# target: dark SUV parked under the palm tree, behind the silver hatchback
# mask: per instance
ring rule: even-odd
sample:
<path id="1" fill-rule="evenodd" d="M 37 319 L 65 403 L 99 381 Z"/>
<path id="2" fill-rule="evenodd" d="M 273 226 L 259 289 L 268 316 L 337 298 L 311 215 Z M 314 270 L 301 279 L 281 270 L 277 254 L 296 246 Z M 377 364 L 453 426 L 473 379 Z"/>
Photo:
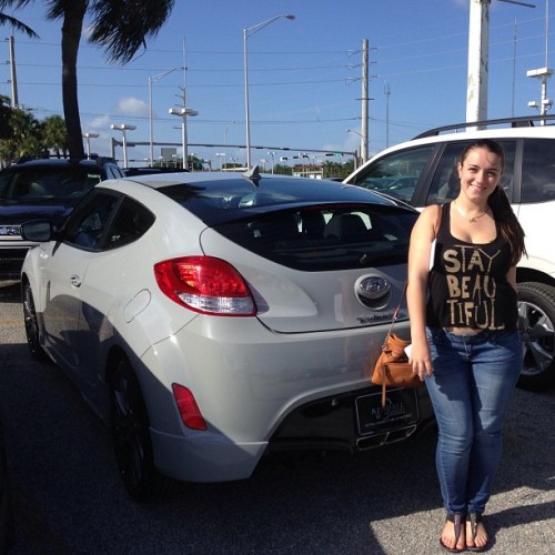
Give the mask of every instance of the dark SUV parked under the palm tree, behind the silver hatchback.
<path id="1" fill-rule="evenodd" d="M 26 253 L 34 244 L 21 238 L 21 223 L 48 218 L 61 225 L 93 185 L 122 176 L 122 169 L 105 159 L 26 160 L 0 171 L 0 279 L 19 280 Z"/>

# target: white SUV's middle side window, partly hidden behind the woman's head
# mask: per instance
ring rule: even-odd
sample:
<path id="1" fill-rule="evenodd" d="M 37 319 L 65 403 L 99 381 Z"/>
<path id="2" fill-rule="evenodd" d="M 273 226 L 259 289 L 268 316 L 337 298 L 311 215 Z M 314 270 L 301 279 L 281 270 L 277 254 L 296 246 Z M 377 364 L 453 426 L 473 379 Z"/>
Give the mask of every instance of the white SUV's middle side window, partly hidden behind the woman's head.
<path id="1" fill-rule="evenodd" d="M 457 141 L 445 144 L 442 158 L 437 163 L 430 184 L 426 205 L 443 204 L 456 198 L 460 189 L 457 163 L 464 149 L 473 141 Z M 505 168 L 501 184 L 508 198 L 513 198 L 513 172 L 515 163 L 516 141 L 498 141 L 505 154 Z"/>

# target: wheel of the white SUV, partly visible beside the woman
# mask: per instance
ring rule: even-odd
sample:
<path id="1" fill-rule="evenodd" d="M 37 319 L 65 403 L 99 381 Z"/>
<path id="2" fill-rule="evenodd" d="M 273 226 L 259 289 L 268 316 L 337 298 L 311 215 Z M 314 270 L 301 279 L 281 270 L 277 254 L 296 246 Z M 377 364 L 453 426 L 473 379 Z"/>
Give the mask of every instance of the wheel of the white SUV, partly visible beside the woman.
<path id="1" fill-rule="evenodd" d="M 531 391 L 555 385 L 555 287 L 518 284 L 518 315 L 523 336 L 523 369 L 518 387 Z"/>

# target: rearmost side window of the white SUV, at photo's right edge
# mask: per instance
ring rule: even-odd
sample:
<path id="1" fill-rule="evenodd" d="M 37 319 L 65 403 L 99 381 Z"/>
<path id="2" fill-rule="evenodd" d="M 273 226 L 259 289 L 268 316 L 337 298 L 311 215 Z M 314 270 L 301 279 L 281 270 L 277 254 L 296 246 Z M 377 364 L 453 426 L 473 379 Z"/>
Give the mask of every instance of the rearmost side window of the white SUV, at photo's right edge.
<path id="1" fill-rule="evenodd" d="M 521 199 L 546 202 L 555 199 L 555 144 L 549 139 L 524 142 Z"/>

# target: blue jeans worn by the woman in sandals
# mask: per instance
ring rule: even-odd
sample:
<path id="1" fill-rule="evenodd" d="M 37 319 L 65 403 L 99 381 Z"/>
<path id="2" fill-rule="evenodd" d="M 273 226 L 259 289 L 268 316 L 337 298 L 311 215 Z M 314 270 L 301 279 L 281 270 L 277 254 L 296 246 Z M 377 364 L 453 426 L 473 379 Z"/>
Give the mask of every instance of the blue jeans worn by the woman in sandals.
<path id="1" fill-rule="evenodd" d="M 445 509 L 483 513 L 502 451 L 505 413 L 522 365 L 519 333 L 458 335 L 428 329 L 434 373 L 426 386 L 440 436 Z"/>

